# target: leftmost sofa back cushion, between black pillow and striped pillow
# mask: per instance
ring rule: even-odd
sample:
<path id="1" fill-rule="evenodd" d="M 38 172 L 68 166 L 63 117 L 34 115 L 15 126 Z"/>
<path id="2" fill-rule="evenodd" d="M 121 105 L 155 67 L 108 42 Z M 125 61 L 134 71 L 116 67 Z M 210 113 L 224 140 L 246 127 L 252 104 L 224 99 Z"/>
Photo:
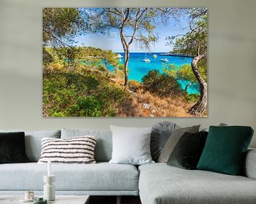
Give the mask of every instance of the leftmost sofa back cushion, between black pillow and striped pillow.
<path id="1" fill-rule="evenodd" d="M 25 132 L 26 156 L 29 162 L 38 162 L 41 156 L 41 140 L 43 137 L 60 138 L 60 130 L 0 130 L 0 132 Z"/>

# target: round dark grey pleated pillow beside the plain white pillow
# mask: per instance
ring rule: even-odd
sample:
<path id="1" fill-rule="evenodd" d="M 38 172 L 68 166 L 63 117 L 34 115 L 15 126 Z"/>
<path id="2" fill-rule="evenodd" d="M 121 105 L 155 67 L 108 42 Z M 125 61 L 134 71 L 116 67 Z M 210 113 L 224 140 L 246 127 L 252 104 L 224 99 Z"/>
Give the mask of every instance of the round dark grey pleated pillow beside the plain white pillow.
<path id="1" fill-rule="evenodd" d="M 179 128 L 178 125 L 169 121 L 161 121 L 152 126 L 150 151 L 152 159 L 157 162 L 159 155 L 169 139 L 171 132 Z"/>

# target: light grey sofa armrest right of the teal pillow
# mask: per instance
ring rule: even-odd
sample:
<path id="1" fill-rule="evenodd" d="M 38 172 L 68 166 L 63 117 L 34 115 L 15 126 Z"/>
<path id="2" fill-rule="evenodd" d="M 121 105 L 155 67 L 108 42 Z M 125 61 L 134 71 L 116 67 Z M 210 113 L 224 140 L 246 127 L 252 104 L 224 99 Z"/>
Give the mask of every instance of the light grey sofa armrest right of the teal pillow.
<path id="1" fill-rule="evenodd" d="M 256 149 L 248 149 L 245 155 L 244 176 L 256 179 Z"/>

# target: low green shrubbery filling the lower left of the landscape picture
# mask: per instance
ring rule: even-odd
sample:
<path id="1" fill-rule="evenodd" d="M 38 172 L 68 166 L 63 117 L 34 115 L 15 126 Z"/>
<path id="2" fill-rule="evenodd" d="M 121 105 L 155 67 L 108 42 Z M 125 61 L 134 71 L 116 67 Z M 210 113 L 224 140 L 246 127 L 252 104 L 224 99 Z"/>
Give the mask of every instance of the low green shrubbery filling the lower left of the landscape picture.
<path id="1" fill-rule="evenodd" d="M 129 98 L 129 92 L 97 69 L 87 68 L 43 68 L 43 112 L 46 116 L 111 117 L 116 114 L 116 107 Z"/>

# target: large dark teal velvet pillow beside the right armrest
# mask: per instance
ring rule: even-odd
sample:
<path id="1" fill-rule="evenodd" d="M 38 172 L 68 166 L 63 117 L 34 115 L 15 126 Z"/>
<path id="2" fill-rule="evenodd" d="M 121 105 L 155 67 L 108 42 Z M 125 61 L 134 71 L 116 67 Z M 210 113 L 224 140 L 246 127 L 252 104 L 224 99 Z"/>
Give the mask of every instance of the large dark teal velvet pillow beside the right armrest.
<path id="1" fill-rule="evenodd" d="M 248 126 L 210 126 L 197 169 L 240 175 L 252 135 Z"/>

